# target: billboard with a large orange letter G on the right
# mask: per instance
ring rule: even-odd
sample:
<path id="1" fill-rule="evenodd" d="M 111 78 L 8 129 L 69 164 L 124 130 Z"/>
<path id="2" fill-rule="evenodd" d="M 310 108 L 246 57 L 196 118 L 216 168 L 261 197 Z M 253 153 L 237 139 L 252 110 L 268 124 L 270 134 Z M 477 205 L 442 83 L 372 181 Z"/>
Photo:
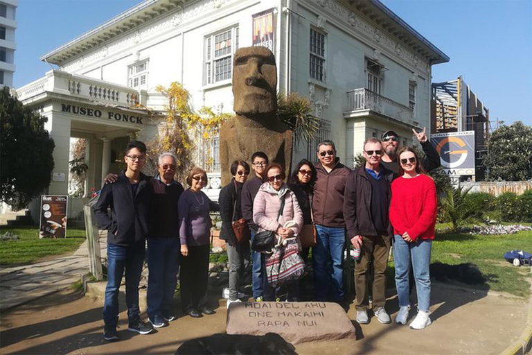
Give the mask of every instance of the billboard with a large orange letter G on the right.
<path id="1" fill-rule="evenodd" d="M 475 175 L 475 131 L 436 133 L 430 142 L 447 175 Z"/>

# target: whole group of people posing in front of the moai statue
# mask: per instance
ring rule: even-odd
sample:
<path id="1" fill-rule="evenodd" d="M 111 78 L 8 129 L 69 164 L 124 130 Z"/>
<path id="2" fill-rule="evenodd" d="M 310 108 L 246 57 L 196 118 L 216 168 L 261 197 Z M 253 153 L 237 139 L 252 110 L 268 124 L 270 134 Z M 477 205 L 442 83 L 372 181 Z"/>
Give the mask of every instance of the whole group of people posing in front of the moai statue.
<path id="1" fill-rule="evenodd" d="M 437 211 L 434 181 L 426 171 L 439 166 L 439 157 L 425 130 L 414 133 L 426 155 L 423 161 L 412 148 L 398 151 L 398 135 L 388 131 L 382 140 L 373 137 L 364 142 L 366 162 L 351 171 L 339 162 L 335 144 L 327 140 L 318 146 L 318 163 L 301 160 L 288 181 L 283 166 L 270 164 L 265 153 L 256 152 L 251 168 L 243 160 L 231 164 L 232 178 L 220 191 L 219 204 L 202 192 L 207 181 L 204 170 L 192 168 L 186 178 L 190 187 L 184 190 L 174 179 L 176 157 L 162 153 L 158 173 L 150 178 L 141 173 L 145 145 L 130 142 L 124 157 L 127 168 L 120 175 L 108 175 L 106 181 L 114 183 L 104 185 L 94 208 L 100 227 L 108 231 L 105 339 L 118 339 L 118 288 L 124 273 L 130 331 L 148 334 L 175 319 L 172 300 L 179 266 L 184 313 L 195 318 L 215 313 L 206 302 L 206 291 L 209 213 L 218 210 L 220 239 L 227 243 L 229 258 L 228 308 L 244 296 L 239 286 L 250 266 L 257 302 L 278 300 L 279 292 L 267 282 L 267 255 L 251 250 L 248 240 L 238 241 L 233 228 L 236 221 L 245 220 L 251 241 L 263 231 L 273 232 L 281 241 L 297 241 L 301 231 L 312 226 L 315 300 L 344 305 L 343 255 L 346 241 L 351 241 L 360 250 L 355 262 L 357 321 L 369 322 L 371 289 L 373 313 L 380 322 L 390 323 L 384 291 L 393 243 L 400 303 L 396 322 L 407 322 L 412 269 L 419 311 L 410 327 L 423 329 L 430 324 L 429 261 Z M 138 292 L 146 239 L 149 322 L 139 315 Z M 300 252 L 307 262 L 310 248 L 300 248 Z M 299 282 L 288 284 L 284 291 L 288 301 L 300 299 Z"/>

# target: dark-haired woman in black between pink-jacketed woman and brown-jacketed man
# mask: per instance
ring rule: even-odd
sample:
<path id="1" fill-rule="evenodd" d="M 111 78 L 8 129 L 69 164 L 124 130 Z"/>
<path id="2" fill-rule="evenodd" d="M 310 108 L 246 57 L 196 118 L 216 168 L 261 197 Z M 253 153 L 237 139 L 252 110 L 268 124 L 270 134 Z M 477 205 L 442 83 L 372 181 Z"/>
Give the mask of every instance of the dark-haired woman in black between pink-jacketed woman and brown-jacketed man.
<path id="1" fill-rule="evenodd" d="M 307 159 L 302 159 L 296 165 L 288 187 L 294 192 L 299 203 L 301 211 L 303 211 L 303 225 L 312 225 L 312 193 L 314 191 L 314 183 L 316 182 L 317 174 L 314 164 Z M 305 266 L 308 263 L 308 252 L 310 248 L 303 248 L 301 257 L 305 261 Z"/>

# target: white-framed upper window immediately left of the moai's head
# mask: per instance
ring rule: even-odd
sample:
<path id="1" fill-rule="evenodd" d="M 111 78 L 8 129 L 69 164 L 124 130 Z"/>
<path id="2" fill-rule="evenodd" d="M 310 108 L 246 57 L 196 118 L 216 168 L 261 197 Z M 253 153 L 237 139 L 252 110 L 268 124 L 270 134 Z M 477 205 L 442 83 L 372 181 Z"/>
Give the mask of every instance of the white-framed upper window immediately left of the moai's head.
<path id="1" fill-rule="evenodd" d="M 233 54 L 238 49 L 238 26 L 205 37 L 205 84 L 231 79 Z"/>

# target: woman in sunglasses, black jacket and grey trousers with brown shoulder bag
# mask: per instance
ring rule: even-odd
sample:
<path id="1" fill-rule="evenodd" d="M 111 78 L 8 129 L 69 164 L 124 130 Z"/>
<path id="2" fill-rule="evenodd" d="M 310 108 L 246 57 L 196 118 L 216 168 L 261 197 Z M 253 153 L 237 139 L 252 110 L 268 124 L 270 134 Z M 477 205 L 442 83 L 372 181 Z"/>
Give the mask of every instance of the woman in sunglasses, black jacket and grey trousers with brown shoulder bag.
<path id="1" fill-rule="evenodd" d="M 233 230 L 233 221 L 242 218 L 242 184 L 249 175 L 249 165 L 242 160 L 235 160 L 231 164 L 233 178 L 222 191 L 220 191 L 220 216 L 222 217 L 222 231 L 220 239 L 227 243 L 227 257 L 229 257 L 229 299 L 227 308 L 231 302 L 240 302 L 238 299 L 238 286 L 240 277 L 249 266 L 249 241 L 238 243 Z"/>

